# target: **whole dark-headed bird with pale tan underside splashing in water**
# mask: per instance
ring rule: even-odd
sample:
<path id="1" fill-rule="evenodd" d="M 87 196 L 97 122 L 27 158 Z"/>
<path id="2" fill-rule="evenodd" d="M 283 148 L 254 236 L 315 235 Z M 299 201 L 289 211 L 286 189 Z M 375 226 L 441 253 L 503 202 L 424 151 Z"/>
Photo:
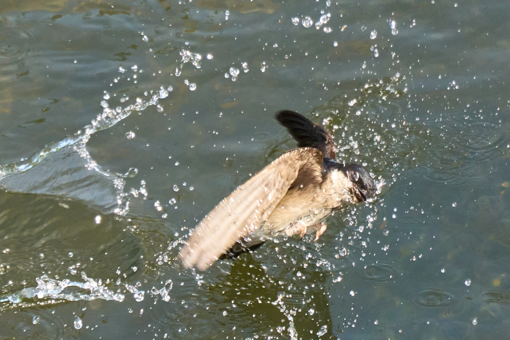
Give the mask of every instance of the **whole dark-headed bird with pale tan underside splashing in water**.
<path id="1" fill-rule="evenodd" d="M 277 237 L 315 232 L 317 241 L 335 209 L 374 197 L 373 178 L 360 165 L 337 161 L 335 141 L 324 126 L 289 110 L 275 118 L 298 147 L 252 176 L 197 224 L 179 252 L 184 268 L 203 271 Z"/>

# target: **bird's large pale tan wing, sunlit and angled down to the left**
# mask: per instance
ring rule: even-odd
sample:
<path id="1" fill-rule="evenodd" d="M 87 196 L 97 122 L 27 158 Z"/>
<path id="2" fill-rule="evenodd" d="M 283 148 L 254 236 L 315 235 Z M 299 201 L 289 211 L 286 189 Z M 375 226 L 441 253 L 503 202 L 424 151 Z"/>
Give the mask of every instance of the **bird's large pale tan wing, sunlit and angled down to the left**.
<path id="1" fill-rule="evenodd" d="M 315 148 L 290 150 L 224 198 L 191 234 L 179 256 L 185 268 L 207 269 L 237 240 L 257 230 L 297 178 L 300 169 L 322 167 Z"/>

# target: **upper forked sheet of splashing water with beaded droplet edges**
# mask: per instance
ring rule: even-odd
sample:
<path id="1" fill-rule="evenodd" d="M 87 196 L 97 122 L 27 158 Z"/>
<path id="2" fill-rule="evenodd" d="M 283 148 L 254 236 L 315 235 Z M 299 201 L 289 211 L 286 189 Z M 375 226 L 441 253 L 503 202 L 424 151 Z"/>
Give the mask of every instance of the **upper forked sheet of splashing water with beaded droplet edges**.
<path id="1" fill-rule="evenodd" d="M 124 192 L 124 175 L 111 173 L 90 156 L 86 144 L 100 130 L 114 126 L 136 111 L 143 111 L 166 98 L 171 88 L 160 87 L 147 101 L 137 98 L 125 108 L 108 106 L 103 112 L 72 136 L 46 145 L 30 158 L 0 165 L 0 187 L 11 192 L 65 196 L 84 202 L 109 214 L 125 215 L 130 193 Z"/>

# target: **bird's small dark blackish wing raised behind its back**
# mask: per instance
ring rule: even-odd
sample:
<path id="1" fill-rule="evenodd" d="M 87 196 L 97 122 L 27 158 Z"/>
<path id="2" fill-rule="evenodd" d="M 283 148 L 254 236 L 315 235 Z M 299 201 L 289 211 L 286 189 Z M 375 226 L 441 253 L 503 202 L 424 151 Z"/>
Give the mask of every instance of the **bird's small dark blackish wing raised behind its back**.
<path id="1" fill-rule="evenodd" d="M 276 113 L 276 120 L 287 127 L 299 147 L 313 147 L 322 151 L 324 158 L 336 159 L 335 141 L 324 126 L 312 123 L 304 116 L 289 110 Z"/>

